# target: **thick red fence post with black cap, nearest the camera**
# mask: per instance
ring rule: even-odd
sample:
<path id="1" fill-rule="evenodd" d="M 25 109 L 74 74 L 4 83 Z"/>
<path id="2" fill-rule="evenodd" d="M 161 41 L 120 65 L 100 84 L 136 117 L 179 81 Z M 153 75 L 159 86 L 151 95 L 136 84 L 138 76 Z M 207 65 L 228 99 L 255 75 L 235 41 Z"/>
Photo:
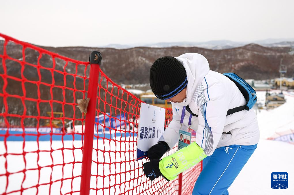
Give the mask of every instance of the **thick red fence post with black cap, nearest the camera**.
<path id="1" fill-rule="evenodd" d="M 93 151 L 93 137 L 94 125 L 96 115 L 96 102 L 98 90 L 98 77 L 102 55 L 98 51 L 92 51 L 90 56 L 90 78 L 88 85 L 88 98 L 90 98 L 87 113 L 85 134 L 83 143 L 83 161 L 81 172 L 81 187 L 80 194 L 88 195 L 90 193 L 90 179 L 91 179 L 91 164 L 92 164 L 92 151 Z"/>

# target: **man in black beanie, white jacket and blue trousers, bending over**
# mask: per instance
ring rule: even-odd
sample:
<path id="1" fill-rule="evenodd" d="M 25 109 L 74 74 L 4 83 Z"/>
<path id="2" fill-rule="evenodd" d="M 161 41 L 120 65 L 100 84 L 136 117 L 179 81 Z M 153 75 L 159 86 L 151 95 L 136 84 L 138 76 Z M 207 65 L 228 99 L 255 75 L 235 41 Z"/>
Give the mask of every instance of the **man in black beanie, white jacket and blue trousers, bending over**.
<path id="1" fill-rule="evenodd" d="M 156 97 L 171 102 L 173 120 L 148 150 L 146 176 L 169 181 L 203 159 L 193 194 L 228 194 L 259 140 L 252 109 L 227 115 L 228 110 L 246 105 L 237 85 L 209 70 L 202 55 L 186 53 L 157 59 L 150 69 L 150 86 Z M 196 131 L 196 142 L 160 160 L 176 144 L 179 130 L 188 127 Z"/>

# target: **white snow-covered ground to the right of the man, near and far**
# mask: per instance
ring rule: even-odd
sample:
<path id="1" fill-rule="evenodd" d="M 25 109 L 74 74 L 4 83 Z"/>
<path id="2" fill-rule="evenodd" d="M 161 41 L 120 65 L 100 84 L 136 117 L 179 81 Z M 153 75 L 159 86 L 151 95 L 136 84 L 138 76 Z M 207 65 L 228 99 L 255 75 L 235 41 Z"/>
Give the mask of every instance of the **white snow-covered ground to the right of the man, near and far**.
<path id="1" fill-rule="evenodd" d="M 294 93 L 284 92 L 284 94 L 285 104 L 273 110 L 257 112 L 260 142 L 252 157 L 228 189 L 230 194 L 294 194 L 294 145 L 266 140 L 275 132 L 294 129 Z M 257 96 L 260 100 L 265 100 L 265 92 L 257 92 Z M 271 189 L 272 172 L 287 172 L 289 188 Z"/>

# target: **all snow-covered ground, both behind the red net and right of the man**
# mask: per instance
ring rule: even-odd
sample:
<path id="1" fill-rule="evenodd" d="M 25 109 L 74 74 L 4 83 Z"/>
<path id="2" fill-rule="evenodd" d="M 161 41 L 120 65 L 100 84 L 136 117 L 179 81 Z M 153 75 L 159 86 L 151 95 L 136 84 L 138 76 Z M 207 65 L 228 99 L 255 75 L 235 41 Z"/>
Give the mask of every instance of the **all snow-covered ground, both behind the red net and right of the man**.
<path id="1" fill-rule="evenodd" d="M 288 144 L 286 142 L 278 142 L 266 140 L 266 138 L 272 136 L 276 131 L 285 131 L 289 128 L 294 128 L 294 93 L 285 93 L 285 98 L 287 102 L 281 105 L 278 108 L 273 110 L 260 110 L 257 112 L 258 122 L 260 126 L 260 142 L 257 149 L 253 153 L 252 157 L 249 159 L 248 163 L 240 172 L 239 176 L 233 182 L 232 186 L 229 188 L 230 194 L 237 195 L 247 195 L 247 194 L 294 194 L 294 145 Z M 258 92 L 258 100 L 265 101 L 265 92 Z M 119 139 L 119 138 L 118 138 Z M 136 138 L 134 138 L 136 139 Z M 98 142 L 98 143 L 97 143 Z M 44 167 L 47 165 L 70 163 L 73 161 L 82 160 L 81 149 L 71 148 L 74 146 L 76 148 L 81 147 L 81 141 L 76 140 L 64 141 L 62 144 L 61 141 L 52 141 L 50 144 L 49 141 L 40 141 L 39 146 L 37 142 L 25 142 L 23 149 L 23 142 L 20 141 L 9 141 L 7 142 L 7 153 L 16 153 L 22 154 L 23 151 L 27 152 L 25 155 L 26 164 L 24 163 L 23 155 L 8 155 L 7 156 L 7 171 L 8 172 L 17 172 L 21 171 L 24 168 L 34 169 L 38 166 Z M 61 148 L 64 149 L 63 153 Z M 124 152 L 126 150 L 135 150 L 136 145 L 134 142 L 119 142 L 119 144 L 114 141 L 107 140 L 94 140 L 93 148 L 98 147 L 98 153 L 93 150 L 93 161 L 98 159 L 104 159 L 106 164 L 97 164 L 93 163 L 92 174 L 100 175 L 98 181 L 96 177 L 91 178 L 91 187 L 96 188 L 96 182 L 98 183 L 98 188 L 102 188 L 103 185 L 113 186 L 114 181 L 123 182 L 131 177 L 138 177 L 136 182 L 141 183 L 142 181 L 147 181 L 146 177 L 142 176 L 142 173 L 138 171 L 127 172 L 128 170 L 134 170 L 139 166 L 139 163 L 142 161 L 136 161 L 135 163 L 120 163 L 122 161 L 130 161 L 134 158 L 132 152 Z M 38 155 L 35 152 L 37 149 L 45 150 L 47 152 L 39 152 Z M 49 152 L 54 149 L 54 152 Z M 106 152 L 103 154 L 102 151 L 116 151 L 115 152 Z M 120 152 L 121 151 L 121 152 Z M 5 145 L 3 141 L 0 141 L 0 154 L 6 152 Z M 52 154 L 52 157 L 50 156 Z M 64 157 L 63 157 L 64 156 Z M 103 160 L 100 160 L 100 162 Z M 143 160 L 146 161 L 146 160 Z M 118 162 L 111 163 L 109 162 Z M 25 166 L 26 165 L 26 166 Z M 0 174 L 5 173 L 5 158 L 0 157 Z M 141 169 L 140 169 L 141 170 Z M 64 166 L 64 175 L 62 176 L 62 166 L 44 167 L 40 170 L 40 180 L 39 184 L 50 182 L 50 176 L 52 176 L 52 181 L 59 180 L 61 178 L 71 178 L 72 176 L 78 176 L 81 173 L 81 163 L 66 164 Z M 114 176 L 119 172 L 124 172 L 121 175 Z M 273 190 L 270 188 L 270 176 L 272 172 L 288 172 L 289 174 L 289 188 L 286 190 Z M 108 175 L 103 179 L 102 175 Z M 114 179 L 114 177 L 116 177 Z M 38 170 L 27 170 L 26 178 L 24 179 L 24 173 L 20 172 L 17 174 L 11 174 L 9 176 L 9 185 L 7 191 L 13 191 L 21 188 L 21 183 L 24 179 L 23 188 L 34 186 L 38 183 Z M 0 194 L 5 191 L 6 186 L 6 176 L 0 176 Z M 80 177 L 74 178 L 71 184 L 71 179 L 63 181 L 61 187 L 61 181 L 54 182 L 51 186 L 51 194 L 60 194 L 60 188 L 62 194 L 70 192 L 71 186 L 73 191 L 79 190 L 80 187 Z M 121 190 L 127 191 L 132 188 L 132 184 L 123 185 L 119 188 L 119 185 L 112 187 L 109 191 L 108 189 L 104 190 L 104 194 L 117 194 L 123 193 Z M 114 192 L 115 188 L 115 192 Z M 144 188 L 145 189 L 145 188 Z M 39 186 L 39 194 L 48 194 L 49 185 Z M 96 194 L 93 190 L 91 193 Z M 131 191 L 129 192 L 131 194 Z M 20 194 L 20 193 L 12 193 Z M 25 190 L 23 194 L 36 194 L 36 188 Z M 102 191 L 98 191 L 98 194 L 102 194 Z M 134 192 L 134 194 L 137 194 Z"/>

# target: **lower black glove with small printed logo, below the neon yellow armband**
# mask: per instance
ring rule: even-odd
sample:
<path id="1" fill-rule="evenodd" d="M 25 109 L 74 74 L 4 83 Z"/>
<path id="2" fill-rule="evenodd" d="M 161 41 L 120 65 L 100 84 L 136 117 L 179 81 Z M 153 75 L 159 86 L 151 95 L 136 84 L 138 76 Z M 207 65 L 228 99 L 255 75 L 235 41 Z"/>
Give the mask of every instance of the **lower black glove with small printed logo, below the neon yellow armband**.
<path id="1" fill-rule="evenodd" d="M 151 181 L 158 178 L 159 176 L 163 176 L 159 170 L 159 161 L 161 160 L 155 159 L 143 164 L 143 172 Z M 166 179 L 164 176 L 163 178 Z"/>

